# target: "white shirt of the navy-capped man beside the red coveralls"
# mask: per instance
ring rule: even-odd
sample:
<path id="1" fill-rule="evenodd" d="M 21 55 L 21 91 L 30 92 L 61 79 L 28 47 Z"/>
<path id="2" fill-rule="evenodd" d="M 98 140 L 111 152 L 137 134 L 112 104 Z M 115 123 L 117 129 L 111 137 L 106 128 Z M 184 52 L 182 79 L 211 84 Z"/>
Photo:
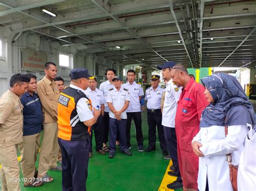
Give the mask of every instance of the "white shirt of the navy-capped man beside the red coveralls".
<path id="1" fill-rule="evenodd" d="M 179 101 L 181 89 L 182 87 L 174 85 L 172 80 L 166 84 L 162 125 L 169 128 L 175 128 L 177 102 Z"/>

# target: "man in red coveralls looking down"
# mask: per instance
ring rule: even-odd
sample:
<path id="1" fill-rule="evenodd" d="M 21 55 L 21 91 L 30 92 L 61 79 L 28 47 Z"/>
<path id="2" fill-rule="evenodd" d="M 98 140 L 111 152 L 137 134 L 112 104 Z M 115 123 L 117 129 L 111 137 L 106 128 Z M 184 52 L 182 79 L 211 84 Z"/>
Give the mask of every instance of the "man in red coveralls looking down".
<path id="1" fill-rule="evenodd" d="M 201 113 L 208 105 L 205 88 L 188 75 L 183 65 L 173 66 L 171 76 L 177 86 L 183 87 L 175 119 L 180 173 L 184 189 L 197 190 L 198 156 L 191 142 L 199 132 Z"/>

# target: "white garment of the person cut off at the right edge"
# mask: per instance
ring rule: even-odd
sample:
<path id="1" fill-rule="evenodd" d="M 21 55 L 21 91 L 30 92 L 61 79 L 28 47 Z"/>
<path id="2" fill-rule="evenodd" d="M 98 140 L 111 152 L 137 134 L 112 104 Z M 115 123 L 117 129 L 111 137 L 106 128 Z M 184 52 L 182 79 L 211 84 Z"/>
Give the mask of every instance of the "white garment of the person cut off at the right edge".
<path id="1" fill-rule="evenodd" d="M 238 190 L 256 190 L 256 133 L 252 125 L 247 124 L 245 148 L 241 153 L 238 167 Z"/>

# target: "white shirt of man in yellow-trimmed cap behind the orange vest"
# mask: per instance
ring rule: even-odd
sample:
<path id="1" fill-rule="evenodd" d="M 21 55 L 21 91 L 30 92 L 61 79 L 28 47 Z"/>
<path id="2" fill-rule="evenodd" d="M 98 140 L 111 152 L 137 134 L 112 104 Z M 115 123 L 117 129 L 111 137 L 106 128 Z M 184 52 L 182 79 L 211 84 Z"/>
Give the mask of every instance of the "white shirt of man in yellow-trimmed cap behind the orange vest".
<path id="1" fill-rule="evenodd" d="M 85 95 L 91 99 L 93 108 L 97 108 L 97 105 L 99 105 L 99 108 L 101 108 L 100 104 L 105 103 L 103 92 L 98 88 L 96 88 L 94 91 L 92 91 L 90 88 L 87 88 L 85 90 Z"/>

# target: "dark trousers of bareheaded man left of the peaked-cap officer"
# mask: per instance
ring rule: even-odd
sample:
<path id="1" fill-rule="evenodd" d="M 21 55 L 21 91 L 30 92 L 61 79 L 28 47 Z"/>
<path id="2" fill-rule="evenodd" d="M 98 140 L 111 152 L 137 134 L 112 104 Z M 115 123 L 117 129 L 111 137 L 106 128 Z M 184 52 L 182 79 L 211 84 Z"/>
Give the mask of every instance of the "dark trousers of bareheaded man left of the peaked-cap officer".
<path id="1" fill-rule="evenodd" d="M 136 139 L 138 145 L 143 145 L 143 134 L 142 134 L 142 112 L 127 112 L 127 125 L 126 125 L 126 142 L 127 147 L 131 146 L 131 123 L 132 119 L 135 123 Z"/>

